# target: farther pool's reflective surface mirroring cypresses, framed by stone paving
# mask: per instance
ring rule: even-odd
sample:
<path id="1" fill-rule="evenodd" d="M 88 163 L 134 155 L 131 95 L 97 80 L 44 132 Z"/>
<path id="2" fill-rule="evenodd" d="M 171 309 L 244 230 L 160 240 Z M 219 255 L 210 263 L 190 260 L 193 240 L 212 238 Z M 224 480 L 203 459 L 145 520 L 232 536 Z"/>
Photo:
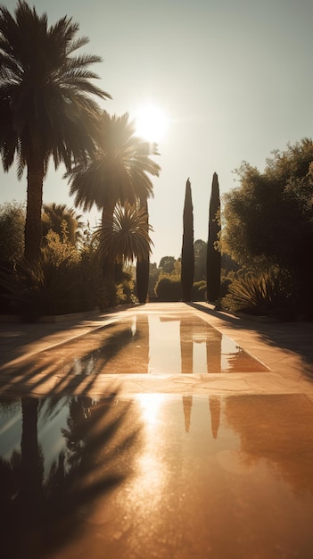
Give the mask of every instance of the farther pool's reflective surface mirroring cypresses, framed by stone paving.
<path id="1" fill-rule="evenodd" d="M 61 375 L 208 374 L 267 368 L 202 319 L 138 313 L 37 355 Z"/>

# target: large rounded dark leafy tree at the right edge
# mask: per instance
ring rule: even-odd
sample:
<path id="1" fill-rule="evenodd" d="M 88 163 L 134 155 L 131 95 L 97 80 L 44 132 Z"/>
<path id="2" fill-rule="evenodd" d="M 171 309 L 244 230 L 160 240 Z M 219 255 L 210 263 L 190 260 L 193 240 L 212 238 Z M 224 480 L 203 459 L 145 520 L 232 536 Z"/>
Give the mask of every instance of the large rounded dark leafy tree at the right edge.
<path id="1" fill-rule="evenodd" d="M 250 270 L 271 265 L 292 276 L 298 312 L 313 313 L 313 142 L 275 151 L 261 173 L 248 163 L 225 195 L 223 247 Z"/>

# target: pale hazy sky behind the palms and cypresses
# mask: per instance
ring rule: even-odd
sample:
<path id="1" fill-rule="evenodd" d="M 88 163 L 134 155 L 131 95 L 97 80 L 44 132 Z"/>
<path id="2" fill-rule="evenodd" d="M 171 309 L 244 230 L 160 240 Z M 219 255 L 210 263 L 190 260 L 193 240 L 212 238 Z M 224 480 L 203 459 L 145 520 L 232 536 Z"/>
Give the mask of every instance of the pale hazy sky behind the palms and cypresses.
<path id="1" fill-rule="evenodd" d="M 1 4 L 1 1 L 0 1 Z M 11 12 L 13 0 L 4 4 Z M 93 69 L 112 100 L 108 113 L 135 119 L 146 105 L 166 118 L 158 138 L 161 165 L 149 201 L 151 262 L 178 258 L 185 182 L 194 205 L 194 240 L 208 238 L 214 172 L 223 194 L 239 186 L 246 161 L 263 171 L 275 149 L 312 137 L 312 0 L 33 0 L 48 22 L 78 21 L 82 49 L 103 62 Z M 0 123 L 1 125 L 1 123 Z M 73 207 L 64 168 L 51 163 L 44 202 Z M 0 204 L 26 199 L 21 181 L 0 171 Z M 78 213 L 81 211 L 78 209 Z M 93 227 L 93 211 L 84 214 Z"/>

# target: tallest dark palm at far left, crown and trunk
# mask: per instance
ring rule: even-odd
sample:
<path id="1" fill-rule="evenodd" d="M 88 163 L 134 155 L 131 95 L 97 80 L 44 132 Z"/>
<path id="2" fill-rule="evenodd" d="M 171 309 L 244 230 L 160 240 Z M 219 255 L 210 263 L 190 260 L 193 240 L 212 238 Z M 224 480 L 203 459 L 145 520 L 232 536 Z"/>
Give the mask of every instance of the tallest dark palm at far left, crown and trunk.
<path id="1" fill-rule="evenodd" d="M 18 177 L 27 168 L 25 255 L 37 260 L 41 243 L 43 181 L 50 157 L 55 168 L 84 158 L 95 148 L 94 96 L 110 97 L 91 79 L 93 54 L 72 55 L 88 43 L 77 38 L 78 23 L 67 16 L 48 27 L 29 4 L 14 16 L 0 6 L 0 151 L 4 171 L 16 156 Z"/>

